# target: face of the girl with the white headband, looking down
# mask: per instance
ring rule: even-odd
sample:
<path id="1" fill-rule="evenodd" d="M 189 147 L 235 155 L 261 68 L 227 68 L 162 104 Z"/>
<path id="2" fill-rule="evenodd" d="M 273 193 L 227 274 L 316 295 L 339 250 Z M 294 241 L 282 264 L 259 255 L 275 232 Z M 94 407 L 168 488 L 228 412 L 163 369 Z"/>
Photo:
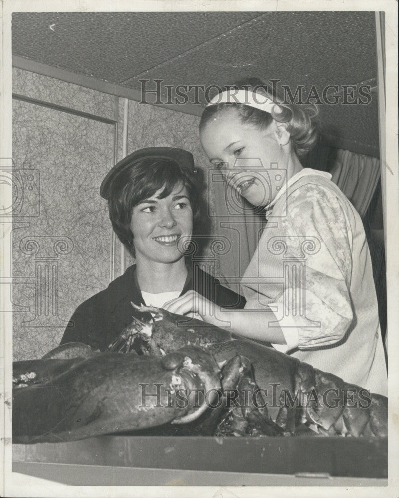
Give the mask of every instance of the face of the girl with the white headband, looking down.
<path id="1" fill-rule="evenodd" d="M 277 178 L 281 185 L 286 175 L 291 147 L 283 126 L 273 120 L 267 129 L 259 129 L 242 123 L 237 111 L 230 109 L 200 131 L 202 148 L 212 165 L 227 168 L 226 181 L 254 206 L 269 204 L 278 192 Z M 277 165 L 279 174 L 270 174 L 271 164 Z"/>

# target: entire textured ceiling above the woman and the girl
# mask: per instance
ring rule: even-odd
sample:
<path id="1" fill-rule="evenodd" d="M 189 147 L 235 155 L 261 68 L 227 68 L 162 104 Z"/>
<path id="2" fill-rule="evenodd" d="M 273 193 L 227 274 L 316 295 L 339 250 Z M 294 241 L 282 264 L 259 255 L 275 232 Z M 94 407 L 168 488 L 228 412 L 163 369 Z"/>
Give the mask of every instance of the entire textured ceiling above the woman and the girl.
<path id="1" fill-rule="evenodd" d="M 154 88 L 154 79 L 222 86 L 248 76 L 292 93 L 303 85 L 305 98 L 312 85 L 319 94 L 376 86 L 374 12 L 14 13 L 12 35 L 14 55 L 135 90 L 140 79 Z M 335 136 L 378 150 L 375 102 L 324 106 L 321 116 Z"/>

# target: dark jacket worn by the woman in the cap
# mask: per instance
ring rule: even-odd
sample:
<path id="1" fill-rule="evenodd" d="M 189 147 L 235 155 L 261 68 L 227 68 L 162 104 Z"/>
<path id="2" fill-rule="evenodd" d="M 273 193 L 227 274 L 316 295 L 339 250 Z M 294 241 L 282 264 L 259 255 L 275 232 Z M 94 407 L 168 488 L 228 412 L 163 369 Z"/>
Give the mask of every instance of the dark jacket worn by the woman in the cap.
<path id="1" fill-rule="evenodd" d="M 240 309 L 245 306 L 242 296 L 223 287 L 219 280 L 208 273 L 196 268 L 194 279 L 191 273 L 189 271 L 180 295 L 188 290 L 195 290 L 224 308 Z M 149 313 L 136 311 L 130 302 L 144 304 L 135 265 L 129 266 L 105 290 L 78 306 L 71 317 L 70 326 L 65 329 L 61 344 L 79 341 L 88 344 L 93 350 L 104 351 L 132 322 L 133 316 L 140 320 L 151 318 Z"/>

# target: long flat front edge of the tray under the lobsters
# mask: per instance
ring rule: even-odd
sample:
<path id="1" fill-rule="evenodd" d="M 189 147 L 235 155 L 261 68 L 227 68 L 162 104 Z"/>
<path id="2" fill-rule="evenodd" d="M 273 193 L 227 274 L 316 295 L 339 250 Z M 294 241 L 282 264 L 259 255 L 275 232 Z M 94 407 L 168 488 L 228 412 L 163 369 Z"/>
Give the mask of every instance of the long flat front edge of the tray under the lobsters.
<path id="1" fill-rule="evenodd" d="M 387 439 L 363 437 L 101 436 L 68 443 L 15 444 L 13 462 L 17 472 L 23 472 L 24 463 L 31 469 L 41 463 L 314 479 L 388 477 Z"/>

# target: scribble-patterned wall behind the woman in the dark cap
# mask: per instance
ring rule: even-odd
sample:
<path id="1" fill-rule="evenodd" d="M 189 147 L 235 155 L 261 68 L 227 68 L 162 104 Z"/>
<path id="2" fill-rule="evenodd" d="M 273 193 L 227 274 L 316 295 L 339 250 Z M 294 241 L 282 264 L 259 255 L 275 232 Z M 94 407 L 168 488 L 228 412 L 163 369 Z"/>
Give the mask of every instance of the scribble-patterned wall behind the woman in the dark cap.
<path id="1" fill-rule="evenodd" d="M 28 71 L 13 70 L 13 92 L 115 116 L 113 96 Z M 206 169 L 198 124 L 198 117 L 130 101 L 128 153 L 148 146 L 182 147 Z M 119 160 L 122 133 L 123 100 Z M 57 346 L 75 308 L 109 283 L 112 229 L 99 187 L 114 162 L 114 125 L 14 99 L 13 160 L 22 179 L 14 199 L 23 192 L 12 236 L 13 353 L 14 360 L 25 360 Z M 23 185 L 19 192 L 18 185 Z M 116 277 L 119 242 L 114 264 Z"/>

